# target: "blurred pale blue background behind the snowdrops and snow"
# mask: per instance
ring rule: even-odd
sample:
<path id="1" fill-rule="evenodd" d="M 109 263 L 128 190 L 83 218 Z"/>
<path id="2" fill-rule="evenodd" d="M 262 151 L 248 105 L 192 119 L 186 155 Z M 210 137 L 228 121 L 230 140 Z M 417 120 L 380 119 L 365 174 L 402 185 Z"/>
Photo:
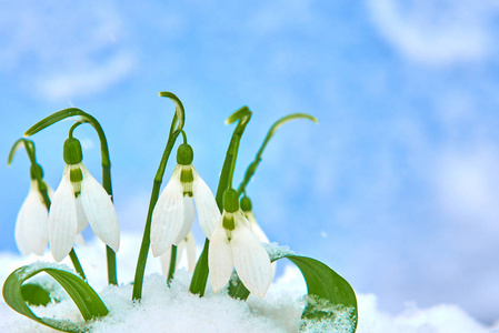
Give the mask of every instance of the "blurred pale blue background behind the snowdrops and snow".
<path id="1" fill-rule="evenodd" d="M 387 311 L 453 303 L 492 323 L 498 37 L 492 0 L 1 1 L 0 251 L 17 252 L 29 189 L 26 153 L 8 168 L 9 150 L 69 107 L 101 122 L 121 230 L 141 233 L 173 114 L 157 93 L 171 91 L 213 191 L 234 110 L 253 111 L 236 184 L 275 120 L 316 115 L 319 124 L 277 132 L 247 188 L 269 238 L 323 261 Z M 71 123 L 32 137 L 53 189 Z M 100 179 L 97 135 L 80 127 L 76 137 Z"/>

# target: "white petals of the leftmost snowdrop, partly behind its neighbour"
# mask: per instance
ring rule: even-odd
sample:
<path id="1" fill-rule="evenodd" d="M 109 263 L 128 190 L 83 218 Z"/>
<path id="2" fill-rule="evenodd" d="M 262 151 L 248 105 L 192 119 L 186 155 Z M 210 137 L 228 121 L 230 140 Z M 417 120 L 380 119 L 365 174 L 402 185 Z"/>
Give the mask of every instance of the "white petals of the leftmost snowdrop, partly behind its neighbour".
<path id="1" fill-rule="evenodd" d="M 52 190 L 48 188 L 49 194 Z M 16 243 L 22 255 L 31 252 L 42 255 L 49 242 L 47 205 L 38 190 L 38 182 L 31 180 L 28 196 L 22 203 L 16 221 Z"/>

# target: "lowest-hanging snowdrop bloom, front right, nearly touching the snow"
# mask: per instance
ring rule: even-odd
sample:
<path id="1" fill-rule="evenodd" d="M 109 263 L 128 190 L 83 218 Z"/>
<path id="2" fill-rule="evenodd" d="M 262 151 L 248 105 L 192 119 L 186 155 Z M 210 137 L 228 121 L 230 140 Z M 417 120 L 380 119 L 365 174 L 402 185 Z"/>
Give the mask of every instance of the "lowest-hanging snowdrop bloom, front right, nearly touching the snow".
<path id="1" fill-rule="evenodd" d="M 236 190 L 229 189 L 223 193 L 223 208 L 208 252 L 213 292 L 218 293 L 229 282 L 234 268 L 244 286 L 263 297 L 272 282 L 269 255 L 239 209 Z"/>

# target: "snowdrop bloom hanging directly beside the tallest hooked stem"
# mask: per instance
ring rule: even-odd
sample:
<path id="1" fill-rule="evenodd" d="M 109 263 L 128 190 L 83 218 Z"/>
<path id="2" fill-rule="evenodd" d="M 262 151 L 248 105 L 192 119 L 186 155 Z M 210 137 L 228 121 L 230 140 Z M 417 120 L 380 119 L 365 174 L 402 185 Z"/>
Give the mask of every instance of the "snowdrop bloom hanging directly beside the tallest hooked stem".
<path id="1" fill-rule="evenodd" d="M 192 160 L 192 148 L 187 143 L 180 144 L 178 164 L 152 212 L 151 250 L 154 256 L 163 254 L 171 245 L 179 245 L 187 236 L 194 220 L 192 198 L 199 224 L 208 239 L 220 219 L 213 193 L 196 172 Z"/>

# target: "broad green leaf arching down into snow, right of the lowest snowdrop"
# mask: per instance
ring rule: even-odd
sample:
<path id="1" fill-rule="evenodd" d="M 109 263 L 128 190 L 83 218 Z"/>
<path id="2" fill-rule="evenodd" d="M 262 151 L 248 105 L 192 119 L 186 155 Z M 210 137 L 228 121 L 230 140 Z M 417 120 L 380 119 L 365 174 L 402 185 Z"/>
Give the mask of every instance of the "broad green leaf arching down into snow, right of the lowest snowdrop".
<path id="1" fill-rule="evenodd" d="M 357 329 L 357 297 L 350 284 L 333 270 L 318 260 L 291 253 L 280 253 L 271 258 L 272 261 L 287 258 L 300 269 L 307 283 L 307 305 L 301 315 L 301 330 L 326 332 L 326 327 L 333 327 L 335 323 L 347 324 L 347 332 Z M 237 275 L 232 276 L 229 294 L 234 299 L 246 300 L 250 292 L 244 287 Z M 339 316 L 347 316 L 339 319 Z M 346 323 L 347 322 L 347 323 Z M 310 329 L 321 323 L 320 329 Z"/>

